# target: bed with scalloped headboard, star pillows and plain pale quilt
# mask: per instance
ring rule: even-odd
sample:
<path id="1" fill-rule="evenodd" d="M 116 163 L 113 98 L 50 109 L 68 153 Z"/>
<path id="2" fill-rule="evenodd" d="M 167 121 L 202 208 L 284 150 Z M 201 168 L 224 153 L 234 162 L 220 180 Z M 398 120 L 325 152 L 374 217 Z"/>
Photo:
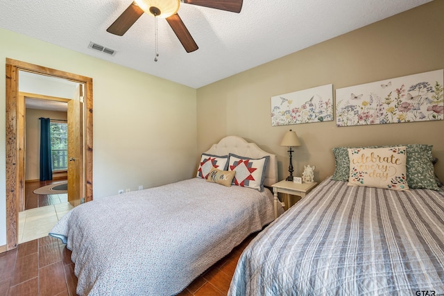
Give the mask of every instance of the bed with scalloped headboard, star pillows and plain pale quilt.
<path id="1" fill-rule="evenodd" d="M 229 136 L 197 168 L 190 180 L 87 202 L 62 217 L 50 235 L 72 251 L 78 295 L 175 295 L 274 220 L 263 187 L 278 180 L 275 155 Z"/>

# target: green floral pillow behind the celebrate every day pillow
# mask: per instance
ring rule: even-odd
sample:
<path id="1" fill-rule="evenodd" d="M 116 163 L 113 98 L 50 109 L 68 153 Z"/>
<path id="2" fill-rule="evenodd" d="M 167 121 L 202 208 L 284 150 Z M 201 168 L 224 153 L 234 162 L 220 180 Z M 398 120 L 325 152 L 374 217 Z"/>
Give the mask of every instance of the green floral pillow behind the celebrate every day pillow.
<path id="1" fill-rule="evenodd" d="M 434 167 L 432 164 L 432 145 L 408 144 L 396 145 L 407 147 L 407 183 L 412 189 L 432 189 L 441 191 L 436 184 Z M 386 148 L 391 146 L 368 146 L 366 148 Z M 332 180 L 348 181 L 350 176 L 350 159 L 348 158 L 348 148 L 355 147 L 335 147 L 333 148 L 334 162 L 336 167 Z"/>

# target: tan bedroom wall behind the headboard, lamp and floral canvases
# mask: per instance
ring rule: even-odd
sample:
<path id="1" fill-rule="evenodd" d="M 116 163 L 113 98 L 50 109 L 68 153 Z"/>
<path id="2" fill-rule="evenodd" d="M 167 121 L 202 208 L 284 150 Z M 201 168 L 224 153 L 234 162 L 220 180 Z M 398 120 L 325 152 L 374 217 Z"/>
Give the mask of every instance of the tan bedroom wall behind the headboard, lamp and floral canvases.
<path id="1" fill-rule="evenodd" d="M 271 96 L 319 85 L 334 89 L 444 68 L 444 1 L 311 46 L 279 60 L 198 89 L 198 151 L 228 134 L 278 155 L 280 179 L 287 177 L 287 148 L 280 141 L 296 130 L 302 146 L 293 154 L 295 174 L 316 165 L 316 180 L 334 171 L 332 148 L 429 143 L 444 180 L 444 121 L 336 128 L 335 121 L 271 126 Z M 336 119 L 335 119 L 336 120 Z"/>

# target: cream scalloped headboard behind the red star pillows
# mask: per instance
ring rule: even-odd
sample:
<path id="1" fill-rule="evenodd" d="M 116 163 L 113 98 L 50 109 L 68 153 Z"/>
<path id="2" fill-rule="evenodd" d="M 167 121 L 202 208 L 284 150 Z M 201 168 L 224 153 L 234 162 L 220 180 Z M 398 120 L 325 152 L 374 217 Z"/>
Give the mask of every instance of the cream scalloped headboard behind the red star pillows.
<path id="1" fill-rule="evenodd" d="M 228 155 L 234 153 L 239 156 L 250 158 L 261 158 L 266 155 L 270 157 L 270 162 L 266 167 L 264 185 L 271 186 L 278 182 L 278 160 L 275 154 L 267 153 L 257 146 L 255 143 L 248 143 L 244 138 L 237 136 L 228 136 L 219 143 L 213 144 L 205 153 L 212 155 Z"/>

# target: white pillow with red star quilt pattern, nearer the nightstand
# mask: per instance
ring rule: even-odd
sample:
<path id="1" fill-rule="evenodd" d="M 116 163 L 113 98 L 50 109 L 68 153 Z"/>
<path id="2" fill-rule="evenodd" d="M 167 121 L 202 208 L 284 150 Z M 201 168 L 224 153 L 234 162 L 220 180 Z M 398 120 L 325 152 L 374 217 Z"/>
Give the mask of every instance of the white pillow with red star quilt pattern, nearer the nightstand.
<path id="1" fill-rule="evenodd" d="M 270 161 L 269 156 L 260 159 L 242 157 L 232 153 L 228 156 L 228 171 L 236 171 L 233 184 L 250 187 L 259 191 L 264 189 L 265 170 L 266 165 Z"/>

